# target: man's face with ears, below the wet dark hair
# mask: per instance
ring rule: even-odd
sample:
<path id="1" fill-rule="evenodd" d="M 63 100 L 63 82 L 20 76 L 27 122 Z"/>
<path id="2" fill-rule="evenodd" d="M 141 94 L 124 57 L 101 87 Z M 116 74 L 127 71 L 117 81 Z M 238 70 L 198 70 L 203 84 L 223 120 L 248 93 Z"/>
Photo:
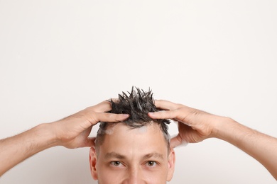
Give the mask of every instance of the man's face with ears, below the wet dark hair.
<path id="1" fill-rule="evenodd" d="M 171 180 L 175 153 L 171 149 L 168 154 L 168 146 L 158 124 L 130 129 L 118 123 L 108 127 L 108 132 L 99 151 L 90 150 L 92 177 L 99 184 L 162 184 Z"/>

